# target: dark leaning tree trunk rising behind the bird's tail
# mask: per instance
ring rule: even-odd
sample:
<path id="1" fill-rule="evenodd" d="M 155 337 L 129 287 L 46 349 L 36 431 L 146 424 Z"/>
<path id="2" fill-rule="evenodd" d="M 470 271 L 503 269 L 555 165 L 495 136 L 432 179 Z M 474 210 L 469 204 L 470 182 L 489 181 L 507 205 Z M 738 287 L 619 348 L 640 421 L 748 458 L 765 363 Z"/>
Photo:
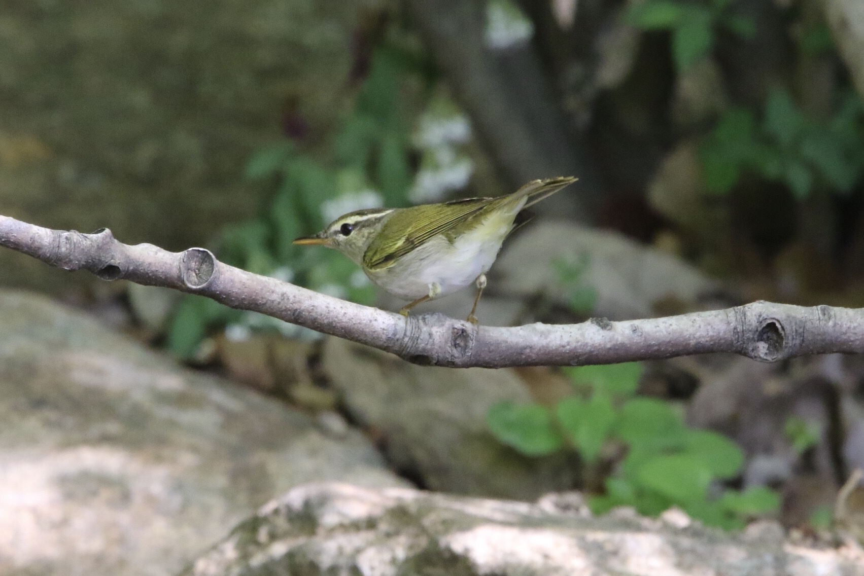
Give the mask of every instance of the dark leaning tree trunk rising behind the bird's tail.
<path id="1" fill-rule="evenodd" d="M 578 176 L 573 193 L 558 194 L 538 205 L 538 212 L 593 221 L 604 193 L 599 176 L 558 111 L 533 47 L 486 47 L 485 3 L 406 3 L 508 184 L 515 188 L 534 178 Z"/>

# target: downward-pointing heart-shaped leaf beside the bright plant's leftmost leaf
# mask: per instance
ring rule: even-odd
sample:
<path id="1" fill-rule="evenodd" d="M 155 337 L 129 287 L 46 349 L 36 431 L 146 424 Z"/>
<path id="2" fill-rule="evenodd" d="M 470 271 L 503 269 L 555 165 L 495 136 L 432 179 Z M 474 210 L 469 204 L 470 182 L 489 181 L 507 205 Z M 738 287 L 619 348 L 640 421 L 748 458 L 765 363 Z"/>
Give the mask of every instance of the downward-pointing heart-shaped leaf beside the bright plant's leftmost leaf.
<path id="1" fill-rule="evenodd" d="M 594 393 L 585 401 L 569 396 L 558 402 L 556 415 L 582 458 L 588 463 L 596 462 L 615 422 L 615 410 L 609 397 Z"/>

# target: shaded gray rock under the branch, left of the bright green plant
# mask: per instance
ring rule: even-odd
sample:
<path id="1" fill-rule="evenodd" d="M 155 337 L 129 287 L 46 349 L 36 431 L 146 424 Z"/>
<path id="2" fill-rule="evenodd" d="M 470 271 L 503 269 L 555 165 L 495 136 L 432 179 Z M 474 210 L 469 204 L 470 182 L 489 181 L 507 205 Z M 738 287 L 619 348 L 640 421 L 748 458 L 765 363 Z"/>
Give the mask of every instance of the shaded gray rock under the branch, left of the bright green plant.
<path id="1" fill-rule="evenodd" d="M 321 364 L 353 419 L 382 434 L 391 465 L 430 490 L 533 500 L 575 485 L 563 455 L 528 458 L 489 433 L 493 404 L 530 402 L 512 370 L 417 366 L 340 339 Z"/>

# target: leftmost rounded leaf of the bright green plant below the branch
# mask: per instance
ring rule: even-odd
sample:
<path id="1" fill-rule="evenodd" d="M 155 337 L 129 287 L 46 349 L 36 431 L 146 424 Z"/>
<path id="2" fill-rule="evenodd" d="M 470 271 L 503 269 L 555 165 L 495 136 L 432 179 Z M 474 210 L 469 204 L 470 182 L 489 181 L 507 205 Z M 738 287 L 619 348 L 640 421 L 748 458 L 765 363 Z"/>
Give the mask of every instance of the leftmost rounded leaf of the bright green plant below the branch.
<path id="1" fill-rule="evenodd" d="M 501 402 L 489 408 L 489 429 L 498 440 L 529 456 L 543 456 L 563 446 L 549 410 L 539 404 Z"/>

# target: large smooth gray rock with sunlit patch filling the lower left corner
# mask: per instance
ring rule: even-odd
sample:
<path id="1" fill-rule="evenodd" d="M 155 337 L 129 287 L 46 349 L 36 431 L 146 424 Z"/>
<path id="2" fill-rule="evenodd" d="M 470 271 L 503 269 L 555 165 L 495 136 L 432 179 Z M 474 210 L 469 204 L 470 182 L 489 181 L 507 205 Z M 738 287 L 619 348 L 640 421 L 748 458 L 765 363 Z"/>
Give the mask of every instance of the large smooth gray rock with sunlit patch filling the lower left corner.
<path id="1" fill-rule="evenodd" d="M 144 576 L 296 484 L 404 485 L 356 430 L 0 291 L 0 574 Z"/>

